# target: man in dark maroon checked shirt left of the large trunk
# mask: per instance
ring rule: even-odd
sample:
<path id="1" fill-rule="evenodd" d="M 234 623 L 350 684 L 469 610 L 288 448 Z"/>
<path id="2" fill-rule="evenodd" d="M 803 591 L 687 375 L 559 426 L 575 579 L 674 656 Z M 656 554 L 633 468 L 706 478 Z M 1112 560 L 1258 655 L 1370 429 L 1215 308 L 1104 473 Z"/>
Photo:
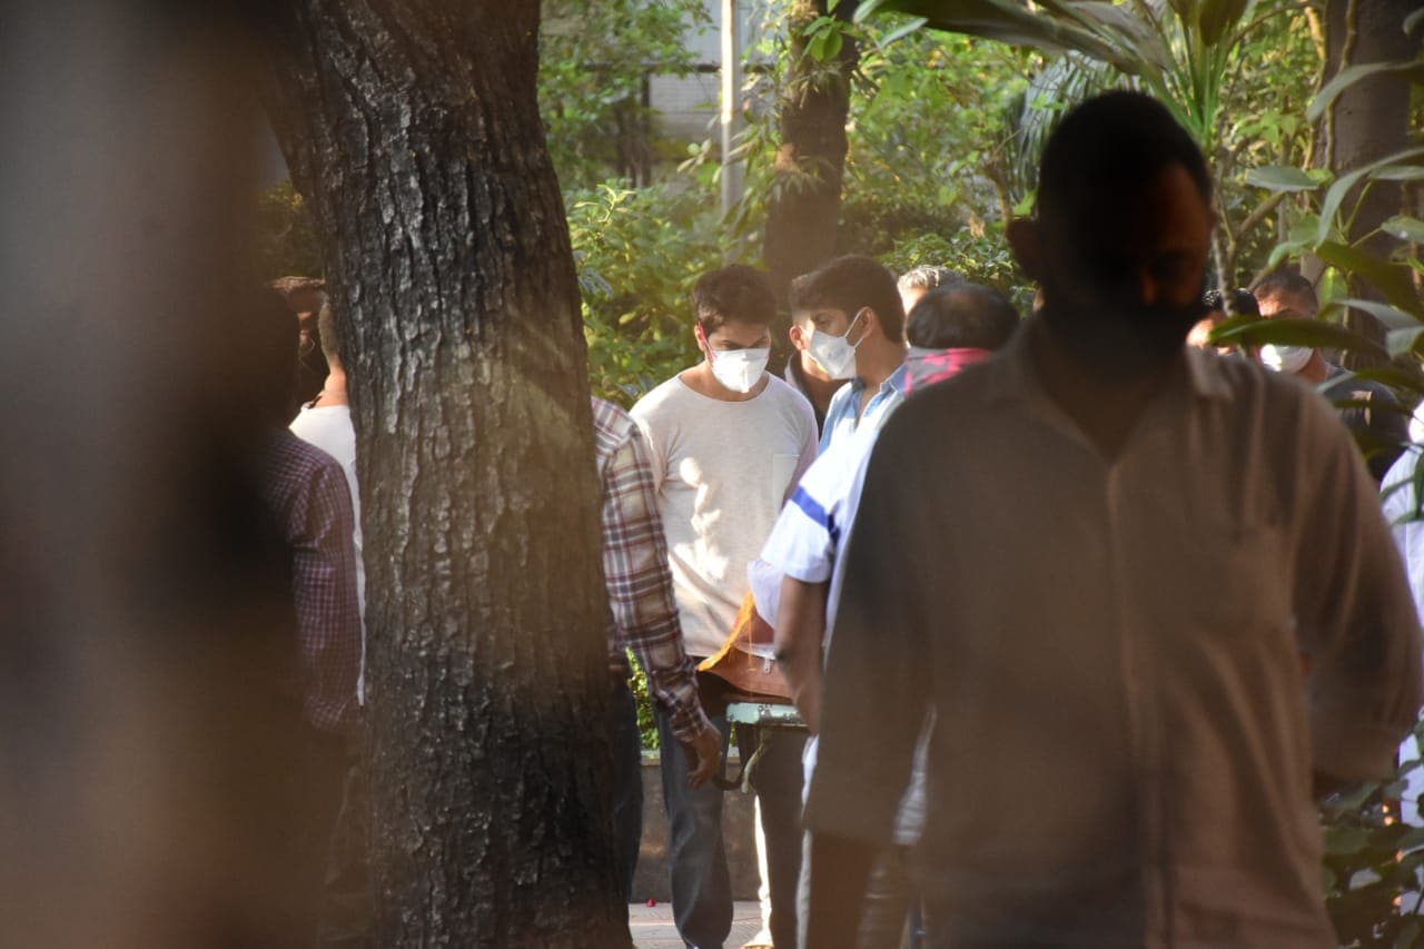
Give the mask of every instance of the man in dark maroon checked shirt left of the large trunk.
<path id="1" fill-rule="evenodd" d="M 290 727 L 302 735 L 300 759 L 292 762 L 289 777 L 299 787 L 303 832 L 289 845 L 292 862 L 319 889 L 349 771 L 349 744 L 360 720 L 355 517 L 340 463 L 285 427 L 295 383 L 296 328 L 275 292 L 265 292 L 262 299 L 265 305 L 252 319 L 261 321 L 268 365 L 251 385 L 268 396 L 263 405 L 271 437 L 262 486 L 269 514 L 286 541 L 298 634 L 281 683 L 290 704 Z M 319 915 L 318 903 L 308 942 L 316 939 Z"/>

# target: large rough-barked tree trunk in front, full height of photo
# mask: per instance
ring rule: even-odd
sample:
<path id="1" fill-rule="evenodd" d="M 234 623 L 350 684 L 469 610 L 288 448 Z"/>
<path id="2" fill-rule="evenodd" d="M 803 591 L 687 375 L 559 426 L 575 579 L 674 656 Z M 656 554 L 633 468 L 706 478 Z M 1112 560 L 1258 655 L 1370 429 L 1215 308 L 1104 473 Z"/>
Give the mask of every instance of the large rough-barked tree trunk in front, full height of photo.
<path id="1" fill-rule="evenodd" d="M 273 124 L 323 228 L 357 433 L 376 945 L 625 943 L 538 4 L 281 6 Z"/>

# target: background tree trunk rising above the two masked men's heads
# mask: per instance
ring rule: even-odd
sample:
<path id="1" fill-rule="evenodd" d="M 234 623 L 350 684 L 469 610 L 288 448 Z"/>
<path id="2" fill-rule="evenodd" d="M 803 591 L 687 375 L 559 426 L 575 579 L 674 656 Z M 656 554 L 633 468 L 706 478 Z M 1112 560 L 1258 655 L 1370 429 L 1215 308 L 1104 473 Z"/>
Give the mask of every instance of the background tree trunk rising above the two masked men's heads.
<path id="1" fill-rule="evenodd" d="M 840 3 L 849 20 L 854 3 Z M 782 144 L 776 152 L 775 198 L 766 212 L 765 256 L 778 298 L 793 278 L 836 252 L 840 185 L 846 171 L 850 73 L 859 51 L 846 40 L 839 56 L 820 63 L 806 48 L 806 26 L 826 14 L 826 0 L 793 0 L 790 60 L 782 83 Z"/>

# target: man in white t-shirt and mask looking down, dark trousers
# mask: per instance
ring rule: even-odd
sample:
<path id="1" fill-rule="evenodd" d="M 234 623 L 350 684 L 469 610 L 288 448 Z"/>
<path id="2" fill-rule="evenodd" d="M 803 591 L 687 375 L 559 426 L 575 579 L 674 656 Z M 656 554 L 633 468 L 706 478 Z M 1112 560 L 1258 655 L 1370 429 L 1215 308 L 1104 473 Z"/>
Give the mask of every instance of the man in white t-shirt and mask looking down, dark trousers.
<path id="1" fill-rule="evenodd" d="M 816 457 L 816 419 L 806 399 L 766 373 L 776 304 L 765 274 L 742 265 L 713 271 L 692 299 L 703 361 L 644 396 L 632 418 L 648 443 L 684 645 L 702 660 L 732 631 L 748 593 L 746 567 Z M 722 792 L 691 787 L 666 712 L 656 708 L 656 718 L 674 919 L 689 945 L 721 946 L 732 926 Z M 722 715 L 712 722 L 725 734 Z M 796 939 L 802 745 L 789 734 L 772 735 L 753 778 L 772 935 L 786 946 Z"/>

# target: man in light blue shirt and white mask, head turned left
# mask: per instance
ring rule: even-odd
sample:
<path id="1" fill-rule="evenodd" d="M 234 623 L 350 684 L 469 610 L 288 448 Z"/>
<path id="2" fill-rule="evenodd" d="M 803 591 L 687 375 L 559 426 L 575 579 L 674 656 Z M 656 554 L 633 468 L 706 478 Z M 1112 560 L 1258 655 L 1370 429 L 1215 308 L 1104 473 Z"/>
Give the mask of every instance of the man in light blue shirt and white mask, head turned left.
<path id="1" fill-rule="evenodd" d="M 849 254 L 797 276 L 792 321 L 812 328 L 807 352 L 832 379 L 850 379 L 826 410 L 820 450 L 904 400 L 904 308 L 894 275 Z"/>

